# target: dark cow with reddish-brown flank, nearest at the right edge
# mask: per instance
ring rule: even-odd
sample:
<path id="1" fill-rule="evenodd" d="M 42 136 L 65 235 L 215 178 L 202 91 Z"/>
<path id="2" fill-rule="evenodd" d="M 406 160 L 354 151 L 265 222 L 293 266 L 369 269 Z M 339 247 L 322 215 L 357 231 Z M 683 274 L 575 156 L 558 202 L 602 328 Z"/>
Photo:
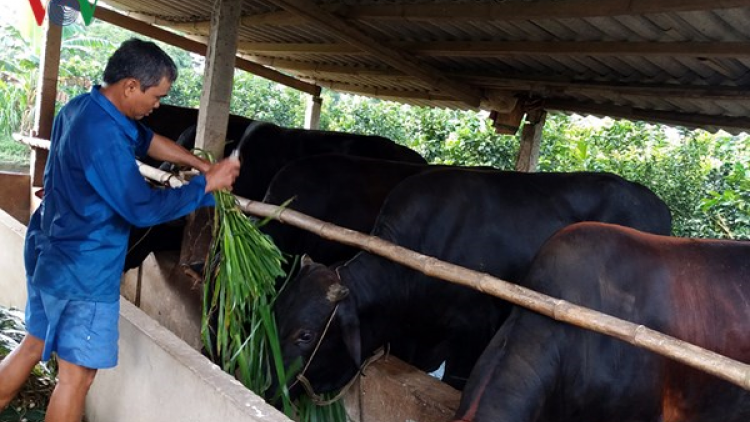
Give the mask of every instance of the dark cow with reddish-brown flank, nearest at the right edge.
<path id="1" fill-rule="evenodd" d="M 581 223 L 544 245 L 523 284 L 750 362 L 750 242 Z M 750 393 L 517 307 L 477 362 L 456 420 L 747 422 Z"/>

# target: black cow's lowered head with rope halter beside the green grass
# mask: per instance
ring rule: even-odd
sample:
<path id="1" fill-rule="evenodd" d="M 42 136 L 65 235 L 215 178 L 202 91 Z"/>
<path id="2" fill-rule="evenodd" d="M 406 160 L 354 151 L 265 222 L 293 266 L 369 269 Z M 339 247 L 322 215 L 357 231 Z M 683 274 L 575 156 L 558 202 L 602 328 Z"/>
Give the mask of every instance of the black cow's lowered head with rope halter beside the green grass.
<path id="1" fill-rule="evenodd" d="M 340 389 L 356 374 L 361 363 L 359 318 L 337 271 L 303 257 L 274 312 L 293 398 L 302 392 L 295 382 L 302 371 L 317 394 Z M 268 394 L 277 392 L 274 383 Z"/>

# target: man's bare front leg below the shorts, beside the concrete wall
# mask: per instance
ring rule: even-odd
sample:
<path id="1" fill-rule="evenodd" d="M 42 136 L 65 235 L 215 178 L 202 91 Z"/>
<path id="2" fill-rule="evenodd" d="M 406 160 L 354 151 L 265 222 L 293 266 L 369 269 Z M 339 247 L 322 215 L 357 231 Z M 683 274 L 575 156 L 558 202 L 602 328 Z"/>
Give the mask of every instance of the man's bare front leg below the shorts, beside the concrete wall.
<path id="1" fill-rule="evenodd" d="M 86 394 L 94 382 L 96 369 L 86 368 L 57 357 L 58 381 L 52 392 L 45 422 L 80 422 Z"/>

